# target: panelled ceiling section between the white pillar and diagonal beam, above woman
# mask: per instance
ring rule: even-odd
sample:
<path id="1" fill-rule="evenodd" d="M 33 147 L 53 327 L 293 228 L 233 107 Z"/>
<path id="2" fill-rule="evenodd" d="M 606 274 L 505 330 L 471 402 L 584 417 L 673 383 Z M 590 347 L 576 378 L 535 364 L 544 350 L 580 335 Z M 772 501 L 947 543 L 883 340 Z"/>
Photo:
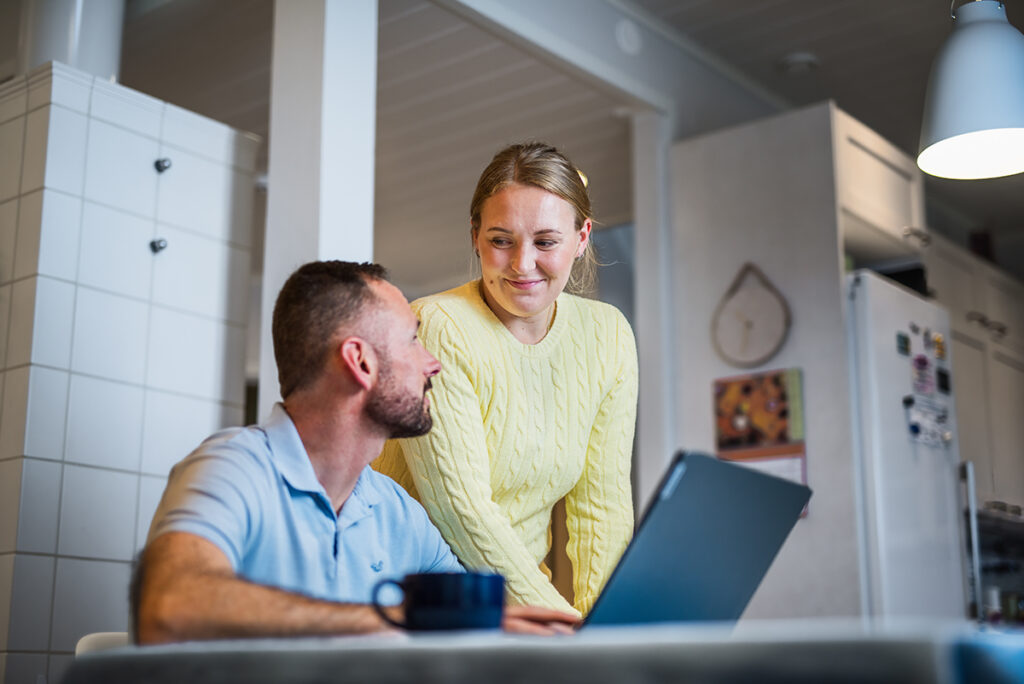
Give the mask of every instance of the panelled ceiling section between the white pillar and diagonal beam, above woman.
<path id="1" fill-rule="evenodd" d="M 465 282 L 469 201 L 499 148 L 547 140 L 604 225 L 633 215 L 618 102 L 423 0 L 380 3 L 375 258 L 412 294 Z"/>

